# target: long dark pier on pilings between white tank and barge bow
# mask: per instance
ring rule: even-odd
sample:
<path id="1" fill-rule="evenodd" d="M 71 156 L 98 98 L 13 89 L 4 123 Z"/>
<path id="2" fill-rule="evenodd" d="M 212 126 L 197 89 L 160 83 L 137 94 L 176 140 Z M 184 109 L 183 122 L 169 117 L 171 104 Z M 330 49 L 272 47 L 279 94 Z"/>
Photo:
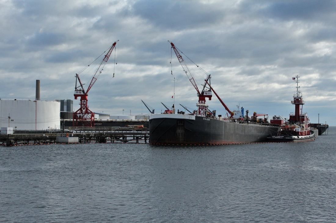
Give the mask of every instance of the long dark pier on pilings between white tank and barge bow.
<path id="1" fill-rule="evenodd" d="M 134 130 L 130 128 L 74 128 L 65 133 L 18 133 L 0 135 L 0 145 L 39 145 L 56 144 L 58 138 L 78 138 L 76 143 L 149 143 L 147 130 Z M 69 141 L 69 143 L 73 143 Z"/>

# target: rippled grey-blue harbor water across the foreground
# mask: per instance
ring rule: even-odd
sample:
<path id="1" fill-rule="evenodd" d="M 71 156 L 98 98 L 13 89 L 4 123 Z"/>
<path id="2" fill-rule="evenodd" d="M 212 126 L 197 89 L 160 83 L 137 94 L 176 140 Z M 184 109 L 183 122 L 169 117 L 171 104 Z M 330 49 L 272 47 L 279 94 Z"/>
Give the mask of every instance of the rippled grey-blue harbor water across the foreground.
<path id="1" fill-rule="evenodd" d="M 0 221 L 336 222 L 335 140 L 1 146 Z"/>

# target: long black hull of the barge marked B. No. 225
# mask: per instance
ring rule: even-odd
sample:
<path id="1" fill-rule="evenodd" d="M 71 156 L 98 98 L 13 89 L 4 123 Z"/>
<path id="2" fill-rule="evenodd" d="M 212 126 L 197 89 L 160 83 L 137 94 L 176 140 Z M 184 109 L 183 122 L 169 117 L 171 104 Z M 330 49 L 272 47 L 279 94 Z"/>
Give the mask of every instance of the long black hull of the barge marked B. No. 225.
<path id="1" fill-rule="evenodd" d="M 265 141 L 278 130 L 269 124 L 244 124 L 182 114 L 152 115 L 150 144 L 241 144 Z"/>

